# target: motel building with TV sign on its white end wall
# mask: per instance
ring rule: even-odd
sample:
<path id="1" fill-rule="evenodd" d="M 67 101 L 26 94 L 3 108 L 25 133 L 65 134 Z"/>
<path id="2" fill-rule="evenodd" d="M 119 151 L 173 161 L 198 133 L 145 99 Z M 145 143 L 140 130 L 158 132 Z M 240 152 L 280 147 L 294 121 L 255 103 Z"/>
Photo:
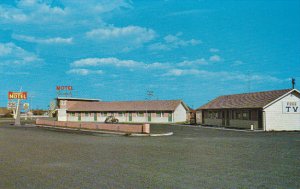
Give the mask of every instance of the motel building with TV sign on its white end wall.
<path id="1" fill-rule="evenodd" d="M 300 92 L 286 89 L 219 96 L 196 110 L 196 122 L 264 131 L 299 131 Z"/>

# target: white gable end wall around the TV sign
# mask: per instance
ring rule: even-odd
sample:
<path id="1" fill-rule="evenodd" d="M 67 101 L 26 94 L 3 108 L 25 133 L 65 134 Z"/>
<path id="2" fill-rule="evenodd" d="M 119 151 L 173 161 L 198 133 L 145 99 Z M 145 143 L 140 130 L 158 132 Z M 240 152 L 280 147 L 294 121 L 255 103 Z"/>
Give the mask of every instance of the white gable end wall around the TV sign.
<path id="1" fill-rule="evenodd" d="M 300 113 L 283 113 L 282 102 L 285 101 L 299 102 L 300 95 L 293 92 L 264 109 L 266 131 L 300 130 Z"/>

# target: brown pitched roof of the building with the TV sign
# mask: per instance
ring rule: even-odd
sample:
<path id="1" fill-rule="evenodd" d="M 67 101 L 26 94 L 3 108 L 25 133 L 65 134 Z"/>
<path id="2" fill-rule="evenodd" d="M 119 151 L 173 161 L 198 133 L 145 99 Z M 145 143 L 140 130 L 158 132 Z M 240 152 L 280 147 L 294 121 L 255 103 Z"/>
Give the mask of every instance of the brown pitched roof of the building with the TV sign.
<path id="1" fill-rule="evenodd" d="M 291 89 L 264 91 L 255 93 L 244 93 L 224 95 L 215 98 L 200 109 L 226 109 L 226 108 L 263 108 L 267 104 L 288 93 Z"/>

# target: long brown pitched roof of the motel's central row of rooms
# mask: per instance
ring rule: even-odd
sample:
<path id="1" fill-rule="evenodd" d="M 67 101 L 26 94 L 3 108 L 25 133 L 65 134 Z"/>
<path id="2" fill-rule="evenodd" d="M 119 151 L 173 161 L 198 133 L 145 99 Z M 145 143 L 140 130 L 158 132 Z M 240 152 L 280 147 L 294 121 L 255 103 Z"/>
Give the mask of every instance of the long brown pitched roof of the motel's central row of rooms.
<path id="1" fill-rule="evenodd" d="M 181 100 L 116 101 L 116 102 L 68 102 L 68 111 L 174 111 Z M 186 108 L 187 109 L 187 108 Z"/>

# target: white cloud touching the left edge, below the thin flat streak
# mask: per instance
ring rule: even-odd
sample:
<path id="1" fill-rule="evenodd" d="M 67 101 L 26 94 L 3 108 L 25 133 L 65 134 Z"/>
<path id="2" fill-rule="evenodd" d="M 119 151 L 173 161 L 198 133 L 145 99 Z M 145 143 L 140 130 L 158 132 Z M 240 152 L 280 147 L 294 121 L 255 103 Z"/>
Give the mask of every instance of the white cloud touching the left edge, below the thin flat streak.
<path id="1" fill-rule="evenodd" d="M 0 65 L 40 64 L 43 60 L 14 43 L 0 43 Z"/>

